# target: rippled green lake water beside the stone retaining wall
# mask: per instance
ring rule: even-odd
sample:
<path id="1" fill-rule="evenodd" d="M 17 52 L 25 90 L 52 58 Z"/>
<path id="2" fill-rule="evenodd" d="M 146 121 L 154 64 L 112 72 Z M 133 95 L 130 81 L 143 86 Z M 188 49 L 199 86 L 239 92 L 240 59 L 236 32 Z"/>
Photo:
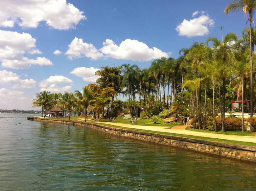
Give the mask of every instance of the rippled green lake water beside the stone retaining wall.
<path id="1" fill-rule="evenodd" d="M 0 190 L 256 190 L 256 164 L 0 113 Z"/>

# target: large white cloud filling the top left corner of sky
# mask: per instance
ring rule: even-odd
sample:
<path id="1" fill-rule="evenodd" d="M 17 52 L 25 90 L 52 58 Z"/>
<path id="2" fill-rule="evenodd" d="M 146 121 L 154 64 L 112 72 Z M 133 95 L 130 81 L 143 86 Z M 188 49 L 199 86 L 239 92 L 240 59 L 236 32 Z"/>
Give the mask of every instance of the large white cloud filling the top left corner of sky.
<path id="1" fill-rule="evenodd" d="M 37 27 L 39 22 L 46 21 L 48 26 L 67 30 L 86 19 L 83 13 L 66 0 L 2 0 L 0 26 L 13 27 L 18 23 L 23 27 Z"/>

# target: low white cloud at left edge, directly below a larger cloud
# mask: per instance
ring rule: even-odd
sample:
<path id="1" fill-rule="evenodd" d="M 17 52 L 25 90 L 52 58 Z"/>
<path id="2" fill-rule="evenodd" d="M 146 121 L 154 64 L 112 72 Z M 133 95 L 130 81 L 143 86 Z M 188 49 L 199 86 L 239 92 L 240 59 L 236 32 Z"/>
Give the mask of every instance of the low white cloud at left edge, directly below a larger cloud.
<path id="1" fill-rule="evenodd" d="M 13 83 L 12 88 L 33 88 L 36 84 L 34 79 L 20 79 L 18 74 L 11 71 L 0 71 L 0 84 L 1 83 Z"/>

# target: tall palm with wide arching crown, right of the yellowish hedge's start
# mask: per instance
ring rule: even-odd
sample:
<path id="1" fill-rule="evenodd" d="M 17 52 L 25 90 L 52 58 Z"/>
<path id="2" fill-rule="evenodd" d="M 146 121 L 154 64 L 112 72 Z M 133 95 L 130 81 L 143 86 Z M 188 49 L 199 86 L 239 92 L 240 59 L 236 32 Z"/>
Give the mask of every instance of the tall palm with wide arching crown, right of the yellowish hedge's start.
<path id="1" fill-rule="evenodd" d="M 223 41 L 218 40 L 216 37 L 208 37 L 206 44 L 208 45 L 210 41 L 212 42 L 212 48 L 208 49 L 209 54 L 210 57 L 218 63 L 220 78 L 222 79 L 222 103 L 220 101 L 220 108 L 222 131 L 225 132 L 225 80 L 230 73 L 228 67 L 233 66 L 236 62 L 235 52 L 237 50 L 237 36 L 234 33 L 228 33 Z"/>

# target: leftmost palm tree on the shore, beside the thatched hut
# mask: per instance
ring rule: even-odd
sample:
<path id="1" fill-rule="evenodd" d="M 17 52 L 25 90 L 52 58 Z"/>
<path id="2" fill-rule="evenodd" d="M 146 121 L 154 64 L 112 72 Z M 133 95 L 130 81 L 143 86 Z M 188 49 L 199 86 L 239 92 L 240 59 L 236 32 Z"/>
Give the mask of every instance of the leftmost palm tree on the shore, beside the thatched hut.
<path id="1" fill-rule="evenodd" d="M 33 99 L 33 107 L 42 106 L 44 109 L 44 118 L 46 116 L 46 107 L 51 107 L 54 104 L 52 100 L 52 96 L 49 91 L 43 91 L 40 93 L 36 93 L 36 99 Z M 43 110 L 42 110 L 43 112 Z"/>

